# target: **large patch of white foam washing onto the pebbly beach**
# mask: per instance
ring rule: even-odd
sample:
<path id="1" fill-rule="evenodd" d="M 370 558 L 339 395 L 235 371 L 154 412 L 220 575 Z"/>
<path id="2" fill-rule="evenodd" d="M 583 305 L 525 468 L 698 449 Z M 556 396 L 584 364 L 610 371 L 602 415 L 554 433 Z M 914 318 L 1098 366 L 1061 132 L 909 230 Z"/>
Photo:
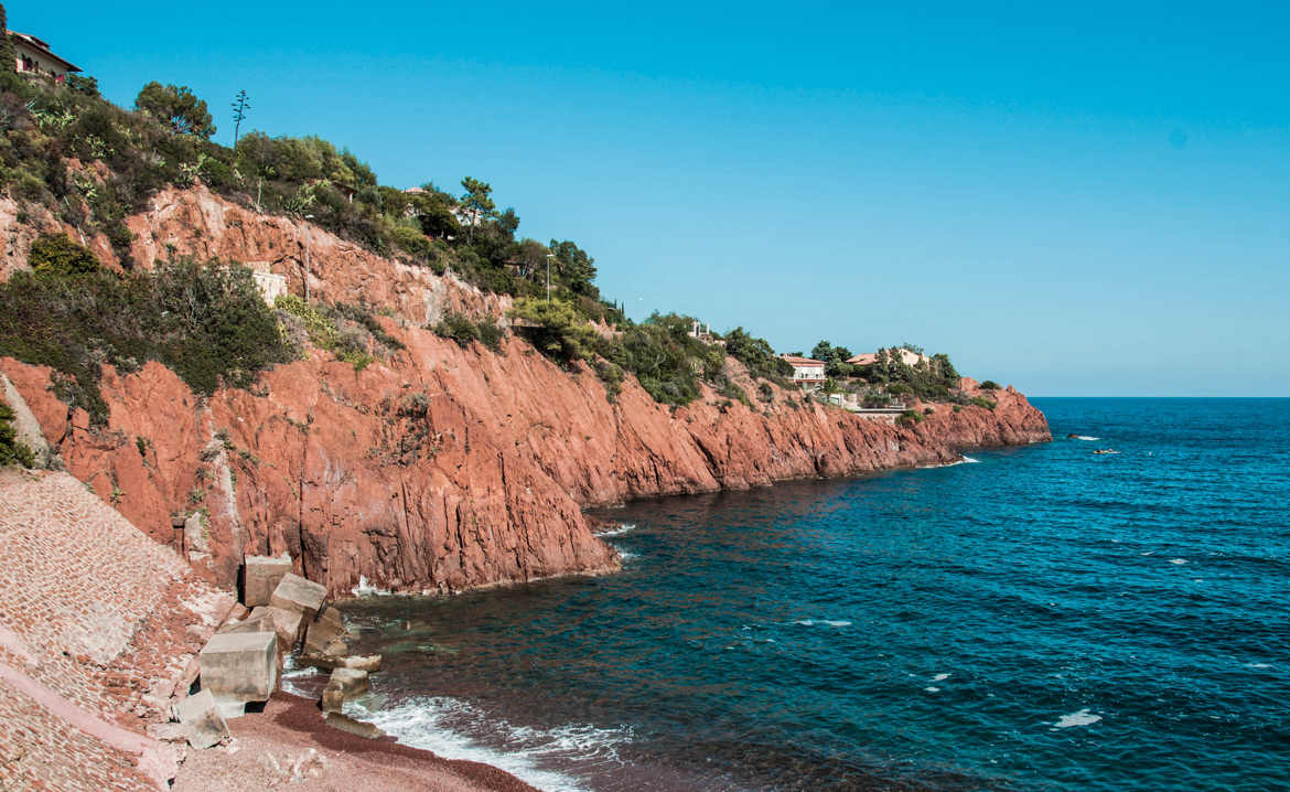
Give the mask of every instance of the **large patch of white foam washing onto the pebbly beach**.
<path id="1" fill-rule="evenodd" d="M 631 739 L 630 729 L 599 729 L 590 724 L 539 729 L 493 721 L 470 703 L 450 697 L 410 699 L 362 720 L 413 748 L 493 765 L 546 792 L 586 792 L 586 788 L 566 773 L 544 767 L 544 760 L 615 762 L 618 746 Z M 495 735 L 506 749 L 486 746 L 475 735 Z"/>

